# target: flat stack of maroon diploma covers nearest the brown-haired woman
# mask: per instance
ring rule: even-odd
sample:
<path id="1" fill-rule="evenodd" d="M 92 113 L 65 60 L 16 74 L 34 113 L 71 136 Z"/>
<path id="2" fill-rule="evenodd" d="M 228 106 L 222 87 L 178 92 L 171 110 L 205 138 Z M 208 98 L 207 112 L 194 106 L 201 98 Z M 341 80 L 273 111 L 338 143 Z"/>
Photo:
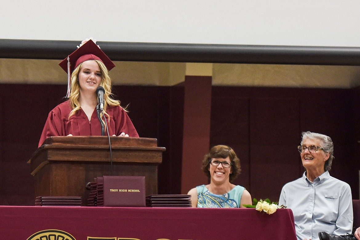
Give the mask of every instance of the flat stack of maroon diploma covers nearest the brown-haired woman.
<path id="1" fill-rule="evenodd" d="M 147 207 L 191 207 L 191 195 L 149 195 Z"/>

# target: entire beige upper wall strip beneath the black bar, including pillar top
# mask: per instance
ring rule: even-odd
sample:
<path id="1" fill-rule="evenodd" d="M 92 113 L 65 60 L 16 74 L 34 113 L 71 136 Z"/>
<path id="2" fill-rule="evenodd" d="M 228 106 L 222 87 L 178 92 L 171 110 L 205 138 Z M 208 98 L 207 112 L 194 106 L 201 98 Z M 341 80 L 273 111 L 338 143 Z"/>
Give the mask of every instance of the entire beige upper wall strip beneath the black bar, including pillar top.
<path id="1" fill-rule="evenodd" d="M 0 84 L 66 84 L 59 60 L 0 59 Z M 352 88 L 360 66 L 202 64 L 115 61 L 114 85 L 173 86 L 187 75 L 211 75 L 216 86 Z"/>

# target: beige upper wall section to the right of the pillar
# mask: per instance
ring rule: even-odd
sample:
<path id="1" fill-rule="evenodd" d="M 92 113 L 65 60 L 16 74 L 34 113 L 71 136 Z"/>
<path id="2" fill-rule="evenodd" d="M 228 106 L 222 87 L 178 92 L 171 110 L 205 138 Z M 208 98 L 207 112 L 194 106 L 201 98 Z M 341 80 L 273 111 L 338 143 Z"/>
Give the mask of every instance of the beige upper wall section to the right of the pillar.
<path id="1" fill-rule="evenodd" d="M 213 85 L 353 88 L 360 66 L 214 64 Z"/>

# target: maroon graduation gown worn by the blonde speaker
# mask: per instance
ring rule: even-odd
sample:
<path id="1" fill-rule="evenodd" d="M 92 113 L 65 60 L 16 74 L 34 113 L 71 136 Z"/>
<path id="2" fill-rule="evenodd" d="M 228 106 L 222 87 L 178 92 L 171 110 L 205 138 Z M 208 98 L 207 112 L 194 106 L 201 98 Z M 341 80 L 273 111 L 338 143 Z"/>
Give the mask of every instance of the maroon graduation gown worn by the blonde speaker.
<path id="1" fill-rule="evenodd" d="M 85 112 L 80 109 L 75 115 L 68 119 L 72 108 L 69 101 L 60 103 L 50 111 L 39 141 L 39 147 L 45 139 L 52 136 L 101 136 L 101 124 L 96 109 L 91 115 L 91 121 Z M 139 137 L 129 116 L 121 106 L 108 106 L 106 112 L 110 116 L 110 124 L 107 119 L 109 134 L 120 135 L 122 132 L 129 134 L 129 137 Z M 107 131 L 105 130 L 105 135 Z"/>

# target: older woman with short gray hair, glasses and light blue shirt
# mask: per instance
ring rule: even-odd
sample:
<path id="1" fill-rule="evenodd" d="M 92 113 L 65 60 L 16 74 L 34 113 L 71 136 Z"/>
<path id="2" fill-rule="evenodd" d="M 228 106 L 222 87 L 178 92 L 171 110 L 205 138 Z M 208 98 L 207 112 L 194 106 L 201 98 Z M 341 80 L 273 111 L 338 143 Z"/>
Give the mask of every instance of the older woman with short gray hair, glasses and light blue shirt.
<path id="1" fill-rule="evenodd" d="M 324 134 L 302 133 L 298 146 L 305 172 L 283 186 L 279 205 L 291 208 L 298 240 L 318 240 L 319 232 L 351 233 L 353 213 L 350 186 L 329 174 L 334 144 Z"/>

